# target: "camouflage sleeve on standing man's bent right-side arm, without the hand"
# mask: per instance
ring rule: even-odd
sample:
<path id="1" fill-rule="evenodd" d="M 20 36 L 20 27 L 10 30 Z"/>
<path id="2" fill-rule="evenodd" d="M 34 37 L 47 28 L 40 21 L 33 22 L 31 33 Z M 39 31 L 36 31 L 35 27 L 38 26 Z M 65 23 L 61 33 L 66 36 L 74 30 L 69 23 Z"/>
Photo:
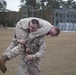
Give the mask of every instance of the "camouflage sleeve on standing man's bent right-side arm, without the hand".
<path id="1" fill-rule="evenodd" d="M 45 44 L 45 41 L 44 39 L 41 39 L 40 40 L 40 47 L 39 47 L 39 51 L 35 54 L 33 54 L 33 59 L 36 59 L 36 58 L 41 58 L 42 56 L 45 55 L 45 52 L 46 51 L 46 44 Z"/>

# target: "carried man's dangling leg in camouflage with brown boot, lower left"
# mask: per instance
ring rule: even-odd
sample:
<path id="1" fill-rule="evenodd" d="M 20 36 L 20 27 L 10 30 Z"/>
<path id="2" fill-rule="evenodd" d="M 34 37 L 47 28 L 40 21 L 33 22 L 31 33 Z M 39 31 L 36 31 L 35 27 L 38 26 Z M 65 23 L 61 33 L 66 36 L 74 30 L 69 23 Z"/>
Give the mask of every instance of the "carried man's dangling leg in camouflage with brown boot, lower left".
<path id="1" fill-rule="evenodd" d="M 22 51 L 22 46 L 20 44 L 18 44 L 17 46 L 15 46 L 13 49 L 9 50 L 8 52 L 4 53 L 2 55 L 2 57 L 0 58 L 0 70 L 5 73 L 6 72 L 6 61 L 10 60 L 14 57 L 16 57 L 17 55 L 19 55 Z"/>

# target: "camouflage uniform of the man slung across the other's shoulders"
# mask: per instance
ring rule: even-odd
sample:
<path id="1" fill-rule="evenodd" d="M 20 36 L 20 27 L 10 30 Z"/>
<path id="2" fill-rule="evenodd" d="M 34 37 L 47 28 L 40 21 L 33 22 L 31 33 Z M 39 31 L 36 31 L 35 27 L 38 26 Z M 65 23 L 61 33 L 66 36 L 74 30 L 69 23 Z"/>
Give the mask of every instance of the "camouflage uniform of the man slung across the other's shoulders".
<path id="1" fill-rule="evenodd" d="M 30 18 L 21 19 L 16 25 L 13 41 L 10 44 L 10 46 L 5 50 L 5 52 L 8 52 L 11 49 L 18 49 L 18 47 L 20 47 L 20 45 L 17 45 L 17 39 L 26 40 L 28 23 L 32 19 L 37 19 L 39 21 L 40 28 L 37 31 L 30 33 L 29 39 L 34 39 L 35 37 L 45 35 L 53 27 L 48 21 L 40 18 L 30 17 Z"/>

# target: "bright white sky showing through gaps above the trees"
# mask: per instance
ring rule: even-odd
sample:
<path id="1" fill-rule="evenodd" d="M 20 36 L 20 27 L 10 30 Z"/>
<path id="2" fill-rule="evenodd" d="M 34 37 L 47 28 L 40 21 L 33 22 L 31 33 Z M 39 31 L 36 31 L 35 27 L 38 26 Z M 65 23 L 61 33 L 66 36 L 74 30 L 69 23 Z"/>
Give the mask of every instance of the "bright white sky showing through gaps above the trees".
<path id="1" fill-rule="evenodd" d="M 20 0 L 5 0 L 7 2 L 7 9 L 18 11 L 20 8 Z M 64 0 L 67 1 L 67 0 Z M 76 0 L 74 0 L 76 1 Z"/>

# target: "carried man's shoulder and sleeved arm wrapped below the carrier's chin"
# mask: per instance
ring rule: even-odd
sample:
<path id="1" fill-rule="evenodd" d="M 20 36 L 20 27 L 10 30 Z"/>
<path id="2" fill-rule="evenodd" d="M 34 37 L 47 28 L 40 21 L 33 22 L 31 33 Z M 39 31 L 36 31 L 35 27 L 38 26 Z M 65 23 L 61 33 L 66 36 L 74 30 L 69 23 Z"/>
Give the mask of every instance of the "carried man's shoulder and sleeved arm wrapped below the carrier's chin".
<path id="1" fill-rule="evenodd" d="M 38 36 L 46 35 L 49 32 L 49 30 L 53 27 L 51 23 L 42 19 L 39 21 L 39 23 L 40 23 L 40 28 L 35 32 L 29 34 L 30 39 L 36 38 Z"/>

